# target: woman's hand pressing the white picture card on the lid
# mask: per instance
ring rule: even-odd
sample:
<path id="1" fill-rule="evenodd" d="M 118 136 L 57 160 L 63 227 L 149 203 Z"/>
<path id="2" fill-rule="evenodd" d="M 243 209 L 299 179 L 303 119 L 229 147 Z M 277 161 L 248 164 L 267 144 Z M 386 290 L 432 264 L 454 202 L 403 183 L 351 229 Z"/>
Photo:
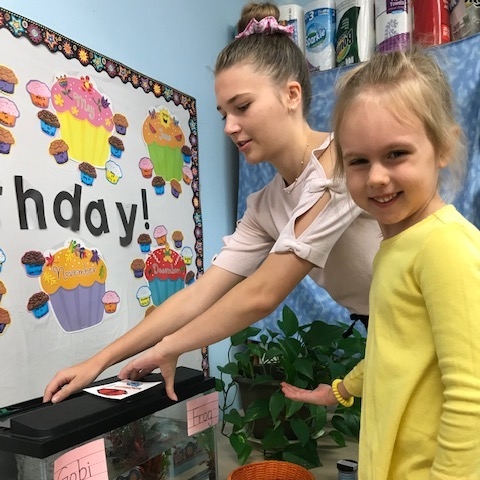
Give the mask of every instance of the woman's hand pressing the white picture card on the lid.
<path id="1" fill-rule="evenodd" d="M 148 375 L 156 368 L 160 368 L 160 372 L 165 382 L 165 392 L 167 396 L 174 401 L 178 401 L 175 393 L 175 371 L 179 354 L 168 351 L 168 337 L 147 350 L 143 355 L 135 358 L 122 368 L 118 377 L 122 380 L 127 378 L 130 380 L 138 380 Z"/>

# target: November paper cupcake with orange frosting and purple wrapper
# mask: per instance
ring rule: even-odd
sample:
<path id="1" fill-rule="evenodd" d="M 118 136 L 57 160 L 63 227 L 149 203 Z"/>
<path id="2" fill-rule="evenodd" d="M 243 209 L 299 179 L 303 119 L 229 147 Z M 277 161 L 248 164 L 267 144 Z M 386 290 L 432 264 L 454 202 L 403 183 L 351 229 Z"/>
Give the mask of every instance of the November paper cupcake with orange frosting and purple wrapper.
<path id="1" fill-rule="evenodd" d="M 40 284 L 50 296 L 53 312 L 66 332 L 99 324 L 103 318 L 107 266 L 97 250 L 72 240 L 66 247 L 49 252 Z"/>

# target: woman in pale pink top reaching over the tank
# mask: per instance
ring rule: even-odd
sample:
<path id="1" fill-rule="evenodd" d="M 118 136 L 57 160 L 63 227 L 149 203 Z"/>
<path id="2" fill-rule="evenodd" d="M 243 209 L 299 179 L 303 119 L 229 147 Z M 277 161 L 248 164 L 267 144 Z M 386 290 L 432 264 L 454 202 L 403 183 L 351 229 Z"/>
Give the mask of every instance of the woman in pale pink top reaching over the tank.
<path id="1" fill-rule="evenodd" d="M 59 372 L 45 401 L 66 398 L 110 365 L 155 344 L 120 377 L 140 378 L 160 367 L 167 394 L 176 399 L 180 354 L 265 317 L 305 275 L 352 314 L 368 315 L 378 225 L 353 203 L 344 181 L 332 179 L 332 135 L 306 121 L 306 61 L 278 15 L 275 5 L 248 4 L 241 33 L 220 53 L 215 69 L 225 133 L 248 162 L 268 161 L 278 174 L 249 197 L 236 231 L 201 278 L 98 354 Z"/>

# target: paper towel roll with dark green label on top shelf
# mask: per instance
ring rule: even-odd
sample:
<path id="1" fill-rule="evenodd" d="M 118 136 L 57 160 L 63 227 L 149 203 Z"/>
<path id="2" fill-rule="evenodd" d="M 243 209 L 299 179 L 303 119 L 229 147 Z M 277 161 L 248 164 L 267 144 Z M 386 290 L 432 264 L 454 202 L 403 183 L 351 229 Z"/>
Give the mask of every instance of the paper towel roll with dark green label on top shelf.
<path id="1" fill-rule="evenodd" d="M 368 60 L 375 47 L 373 0 L 337 0 L 336 65 Z"/>

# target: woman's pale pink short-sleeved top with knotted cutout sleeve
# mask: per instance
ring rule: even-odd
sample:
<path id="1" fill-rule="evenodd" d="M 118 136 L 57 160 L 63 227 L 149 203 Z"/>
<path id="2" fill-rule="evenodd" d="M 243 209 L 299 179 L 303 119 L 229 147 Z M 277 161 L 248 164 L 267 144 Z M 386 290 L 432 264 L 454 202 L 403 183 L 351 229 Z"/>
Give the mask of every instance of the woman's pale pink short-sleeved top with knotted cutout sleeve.
<path id="1" fill-rule="evenodd" d="M 327 139 L 316 151 L 325 149 Z M 331 199 L 299 236 L 297 219 L 329 192 Z M 280 174 L 249 195 L 235 232 L 224 237 L 213 264 L 247 277 L 269 253 L 294 252 L 308 260 L 310 277 L 351 313 L 368 314 L 372 262 L 381 240 L 377 222 L 353 202 L 342 180 L 327 178 L 315 155 L 296 184 L 285 187 Z"/>

